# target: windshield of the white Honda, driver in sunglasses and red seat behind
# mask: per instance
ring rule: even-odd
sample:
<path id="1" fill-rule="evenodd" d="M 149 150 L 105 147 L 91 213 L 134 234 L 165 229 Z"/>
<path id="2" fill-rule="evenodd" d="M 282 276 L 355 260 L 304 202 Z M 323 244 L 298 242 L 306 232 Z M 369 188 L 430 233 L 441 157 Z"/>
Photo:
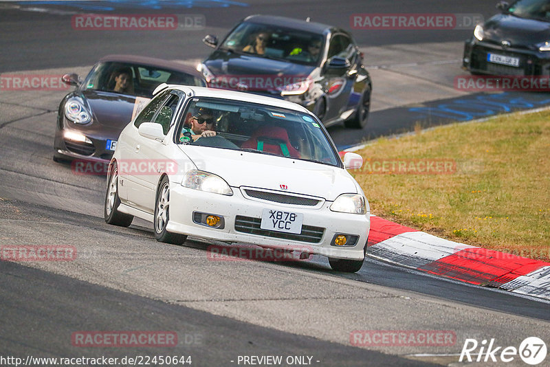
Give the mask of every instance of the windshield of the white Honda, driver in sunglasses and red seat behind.
<path id="1" fill-rule="evenodd" d="M 341 166 L 320 122 L 309 113 L 242 101 L 193 98 L 179 126 L 179 144 Z"/>

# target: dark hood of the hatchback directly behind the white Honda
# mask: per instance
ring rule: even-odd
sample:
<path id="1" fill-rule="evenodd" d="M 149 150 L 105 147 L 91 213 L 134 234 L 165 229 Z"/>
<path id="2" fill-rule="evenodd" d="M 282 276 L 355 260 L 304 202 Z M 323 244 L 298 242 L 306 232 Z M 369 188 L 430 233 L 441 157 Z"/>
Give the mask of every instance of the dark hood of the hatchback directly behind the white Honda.
<path id="1" fill-rule="evenodd" d="M 261 56 L 237 54 L 223 50 L 214 51 L 204 64 L 214 76 L 229 75 L 263 75 L 309 76 L 316 67 L 273 60 Z"/>

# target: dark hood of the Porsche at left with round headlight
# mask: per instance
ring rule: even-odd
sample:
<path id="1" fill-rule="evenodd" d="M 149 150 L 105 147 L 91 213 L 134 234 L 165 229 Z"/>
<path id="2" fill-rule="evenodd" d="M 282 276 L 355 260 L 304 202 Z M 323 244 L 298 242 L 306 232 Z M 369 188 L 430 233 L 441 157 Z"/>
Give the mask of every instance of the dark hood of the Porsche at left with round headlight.
<path id="1" fill-rule="evenodd" d="M 105 133 L 120 132 L 131 121 L 135 96 L 106 91 L 83 91 L 81 97 L 91 111 L 93 122 L 89 129 Z"/>

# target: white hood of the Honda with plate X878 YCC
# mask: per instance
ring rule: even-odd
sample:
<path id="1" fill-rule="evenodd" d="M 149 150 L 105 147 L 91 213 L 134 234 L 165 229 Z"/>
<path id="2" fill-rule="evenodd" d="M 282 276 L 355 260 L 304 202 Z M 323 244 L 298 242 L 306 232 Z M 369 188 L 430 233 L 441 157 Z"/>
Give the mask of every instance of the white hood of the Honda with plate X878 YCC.
<path id="1" fill-rule="evenodd" d="M 346 170 L 300 159 L 261 153 L 179 145 L 197 168 L 219 175 L 232 187 L 248 186 L 322 197 L 333 201 L 342 193 L 358 192 Z"/>

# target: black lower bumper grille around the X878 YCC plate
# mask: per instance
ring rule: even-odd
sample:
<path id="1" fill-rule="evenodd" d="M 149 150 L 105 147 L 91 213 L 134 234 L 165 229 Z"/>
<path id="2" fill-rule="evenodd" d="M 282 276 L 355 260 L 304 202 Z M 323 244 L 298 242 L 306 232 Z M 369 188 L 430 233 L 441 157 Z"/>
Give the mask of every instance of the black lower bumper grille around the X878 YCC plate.
<path id="1" fill-rule="evenodd" d="M 322 239 L 322 235 L 325 233 L 325 228 L 314 227 L 313 225 L 302 225 L 302 232 L 300 234 L 262 230 L 260 228 L 261 223 L 262 220 L 260 218 L 238 215 L 235 218 L 235 230 L 237 232 L 256 234 L 258 236 L 283 238 L 285 240 L 309 243 L 319 243 Z"/>

